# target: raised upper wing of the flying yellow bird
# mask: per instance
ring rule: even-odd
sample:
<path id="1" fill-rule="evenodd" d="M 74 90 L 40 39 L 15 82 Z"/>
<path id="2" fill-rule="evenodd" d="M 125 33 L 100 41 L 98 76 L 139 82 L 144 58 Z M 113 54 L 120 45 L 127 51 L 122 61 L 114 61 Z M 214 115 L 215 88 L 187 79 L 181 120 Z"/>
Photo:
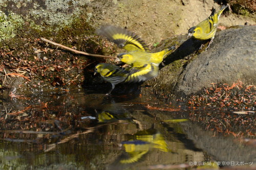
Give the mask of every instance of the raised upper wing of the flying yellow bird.
<path id="1" fill-rule="evenodd" d="M 136 34 L 114 26 L 103 26 L 97 30 L 97 34 L 105 36 L 108 40 L 116 43 L 118 47 L 127 52 L 149 51 L 148 46 Z"/>

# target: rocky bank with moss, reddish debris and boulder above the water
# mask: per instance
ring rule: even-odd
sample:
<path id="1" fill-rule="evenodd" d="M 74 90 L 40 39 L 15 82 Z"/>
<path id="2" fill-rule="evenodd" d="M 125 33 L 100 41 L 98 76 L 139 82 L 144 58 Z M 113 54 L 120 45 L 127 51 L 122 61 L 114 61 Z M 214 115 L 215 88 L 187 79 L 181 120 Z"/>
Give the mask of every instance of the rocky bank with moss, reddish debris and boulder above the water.
<path id="1" fill-rule="evenodd" d="M 105 24 L 139 34 L 153 51 L 177 46 L 164 61 L 160 75 L 142 84 L 139 93 L 170 102 L 195 94 L 211 83 L 241 80 L 254 85 L 255 26 L 250 26 L 255 25 L 253 3 L 230 2 L 233 12 L 221 16 L 223 31 L 217 33 L 208 51 L 198 49 L 201 42 L 186 39 L 187 30 L 208 17 L 212 8 L 219 9 L 221 3 L 225 1 L 0 1 L 2 96 L 61 93 L 82 86 L 104 89 L 106 84 L 93 77 L 94 66 L 112 59 L 74 54 L 40 37 L 79 51 L 116 56 L 121 52 L 116 45 L 95 35 L 95 29 Z M 233 27 L 245 23 L 248 26 Z"/>

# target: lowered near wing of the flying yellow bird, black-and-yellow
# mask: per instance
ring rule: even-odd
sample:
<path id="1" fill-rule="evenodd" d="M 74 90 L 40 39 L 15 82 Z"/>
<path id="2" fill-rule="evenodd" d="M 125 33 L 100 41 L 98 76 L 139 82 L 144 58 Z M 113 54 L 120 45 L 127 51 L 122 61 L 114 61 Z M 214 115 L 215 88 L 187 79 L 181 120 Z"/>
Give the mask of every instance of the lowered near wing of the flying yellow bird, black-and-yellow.
<path id="1" fill-rule="evenodd" d="M 125 82 L 141 82 L 158 76 L 158 66 L 155 64 L 144 64 L 141 67 L 131 67 L 130 74 Z"/>

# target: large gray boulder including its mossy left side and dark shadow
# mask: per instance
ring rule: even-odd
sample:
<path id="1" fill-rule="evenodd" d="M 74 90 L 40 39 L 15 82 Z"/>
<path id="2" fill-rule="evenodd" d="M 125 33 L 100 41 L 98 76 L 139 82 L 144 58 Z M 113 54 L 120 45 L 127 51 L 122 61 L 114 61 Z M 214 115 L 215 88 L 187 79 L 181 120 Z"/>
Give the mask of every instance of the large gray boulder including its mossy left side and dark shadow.
<path id="1" fill-rule="evenodd" d="M 198 51 L 198 40 L 185 36 L 166 40 L 183 42 L 177 50 L 168 56 L 159 76 L 147 82 L 152 91 L 160 98 L 187 96 L 195 94 L 211 83 L 232 83 L 238 80 L 245 84 L 256 83 L 255 65 L 256 26 L 240 26 L 218 32 L 207 51 Z M 170 41 L 170 42 L 169 42 Z M 204 42 L 205 43 L 205 42 Z"/>

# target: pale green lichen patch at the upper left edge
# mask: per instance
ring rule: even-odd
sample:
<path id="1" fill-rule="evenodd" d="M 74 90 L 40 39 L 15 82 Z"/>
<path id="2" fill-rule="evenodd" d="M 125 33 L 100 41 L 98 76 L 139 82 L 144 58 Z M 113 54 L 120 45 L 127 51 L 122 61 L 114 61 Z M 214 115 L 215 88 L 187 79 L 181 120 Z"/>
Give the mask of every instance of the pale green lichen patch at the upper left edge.
<path id="1" fill-rule="evenodd" d="M 23 25 L 24 20 L 21 16 L 14 13 L 6 15 L 0 11 L 0 41 L 13 38 Z"/>

